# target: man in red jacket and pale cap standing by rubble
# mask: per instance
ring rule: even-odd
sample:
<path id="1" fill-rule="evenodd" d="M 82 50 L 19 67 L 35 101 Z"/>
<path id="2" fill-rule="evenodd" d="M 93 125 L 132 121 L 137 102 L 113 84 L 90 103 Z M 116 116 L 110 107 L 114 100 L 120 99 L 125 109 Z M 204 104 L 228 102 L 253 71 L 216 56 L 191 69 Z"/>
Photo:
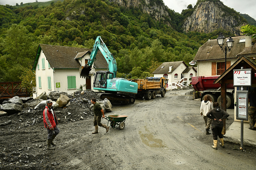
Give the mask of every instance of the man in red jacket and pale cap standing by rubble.
<path id="1" fill-rule="evenodd" d="M 54 147 L 51 147 L 51 145 L 56 146 L 55 143 L 53 143 L 54 138 L 59 134 L 59 128 L 57 127 L 58 121 L 56 118 L 56 115 L 52 109 L 53 101 L 52 100 L 46 100 L 46 106 L 44 109 L 44 127 L 47 128 L 48 136 L 47 136 L 47 149 L 48 150 L 54 150 Z"/>

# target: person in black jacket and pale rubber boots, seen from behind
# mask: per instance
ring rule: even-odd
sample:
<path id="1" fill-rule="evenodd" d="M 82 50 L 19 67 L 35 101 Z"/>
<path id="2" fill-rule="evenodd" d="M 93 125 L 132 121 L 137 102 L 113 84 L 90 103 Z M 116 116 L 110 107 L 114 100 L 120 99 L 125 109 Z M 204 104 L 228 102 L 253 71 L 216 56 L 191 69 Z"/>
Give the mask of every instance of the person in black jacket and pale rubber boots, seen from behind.
<path id="1" fill-rule="evenodd" d="M 213 136 L 213 149 L 217 149 L 218 136 L 221 141 L 220 145 L 224 148 L 224 141 L 222 136 L 223 122 L 222 119 L 227 118 L 229 114 L 220 109 L 219 103 L 213 103 L 213 109 L 206 113 L 208 118 L 212 118 L 212 136 Z"/>

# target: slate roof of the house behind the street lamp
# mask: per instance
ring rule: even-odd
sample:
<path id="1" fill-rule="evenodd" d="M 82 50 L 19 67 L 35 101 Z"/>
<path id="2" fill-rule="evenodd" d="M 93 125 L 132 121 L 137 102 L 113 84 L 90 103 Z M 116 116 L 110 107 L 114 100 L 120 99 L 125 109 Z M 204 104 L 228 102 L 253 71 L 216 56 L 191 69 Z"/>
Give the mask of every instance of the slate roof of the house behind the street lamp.
<path id="1" fill-rule="evenodd" d="M 224 47 L 227 45 L 225 39 Z M 234 46 L 230 52 L 227 52 L 227 58 L 237 58 L 237 54 L 241 53 L 245 49 L 245 43 L 239 43 L 240 39 L 245 39 L 245 36 L 234 36 Z M 225 59 L 225 53 L 219 47 L 217 39 L 209 39 L 206 43 L 201 46 L 194 58 L 194 61 L 206 61 L 206 60 L 219 60 Z"/>

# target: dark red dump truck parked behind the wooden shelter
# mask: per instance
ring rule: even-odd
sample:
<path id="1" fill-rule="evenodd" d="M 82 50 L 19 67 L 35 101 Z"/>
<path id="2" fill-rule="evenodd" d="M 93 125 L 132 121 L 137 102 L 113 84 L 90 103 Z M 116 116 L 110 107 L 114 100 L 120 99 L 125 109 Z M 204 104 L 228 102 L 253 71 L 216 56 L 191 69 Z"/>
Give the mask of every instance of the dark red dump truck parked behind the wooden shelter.
<path id="1" fill-rule="evenodd" d="M 203 98 L 208 94 L 212 102 L 218 102 L 221 100 L 220 84 L 214 84 L 213 82 L 218 79 L 219 76 L 197 76 L 191 77 L 191 84 L 196 90 L 198 97 Z M 226 107 L 231 108 L 234 106 L 234 86 L 233 84 L 227 84 L 227 95 L 226 95 Z"/>

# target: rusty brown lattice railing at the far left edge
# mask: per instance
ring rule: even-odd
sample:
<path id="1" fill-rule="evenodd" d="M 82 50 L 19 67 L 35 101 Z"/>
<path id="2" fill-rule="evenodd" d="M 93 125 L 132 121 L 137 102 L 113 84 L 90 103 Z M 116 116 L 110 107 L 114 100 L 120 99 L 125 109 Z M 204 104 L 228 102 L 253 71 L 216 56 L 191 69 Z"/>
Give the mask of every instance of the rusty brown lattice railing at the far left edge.
<path id="1" fill-rule="evenodd" d="M 30 93 L 25 88 L 22 88 L 21 82 L 0 82 L 0 99 L 15 96 L 29 97 Z"/>

